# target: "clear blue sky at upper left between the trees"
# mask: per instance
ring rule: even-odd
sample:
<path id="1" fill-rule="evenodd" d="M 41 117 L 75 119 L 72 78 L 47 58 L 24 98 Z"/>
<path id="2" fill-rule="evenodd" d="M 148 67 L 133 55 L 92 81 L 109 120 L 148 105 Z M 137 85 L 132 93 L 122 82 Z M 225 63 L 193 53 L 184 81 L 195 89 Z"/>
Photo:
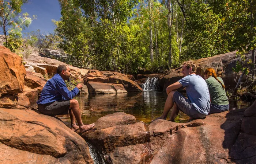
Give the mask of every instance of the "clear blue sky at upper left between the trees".
<path id="1" fill-rule="evenodd" d="M 26 28 L 23 32 L 40 29 L 41 32 L 48 34 L 54 30 L 52 19 L 59 20 L 61 17 L 58 0 L 30 0 L 30 3 L 23 5 L 23 12 L 29 13 L 31 17 L 37 15 L 37 20 L 33 20 L 29 28 Z"/>

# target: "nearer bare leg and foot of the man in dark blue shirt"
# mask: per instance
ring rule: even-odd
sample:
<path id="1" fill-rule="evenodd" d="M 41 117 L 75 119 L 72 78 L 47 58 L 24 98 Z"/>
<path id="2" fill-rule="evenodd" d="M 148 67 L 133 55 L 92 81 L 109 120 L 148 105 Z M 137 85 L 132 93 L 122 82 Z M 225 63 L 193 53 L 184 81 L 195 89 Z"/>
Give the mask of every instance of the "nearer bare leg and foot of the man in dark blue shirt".
<path id="1" fill-rule="evenodd" d="M 86 132 L 88 130 L 90 130 L 91 128 L 94 127 L 94 123 L 90 124 L 90 125 L 84 125 L 82 118 L 81 118 L 81 114 L 80 114 L 80 109 L 79 109 L 79 104 L 78 101 L 76 99 L 71 99 L 70 100 L 70 108 L 72 110 L 72 113 L 74 114 L 76 121 L 78 123 L 79 126 L 79 130 L 80 133 Z"/>

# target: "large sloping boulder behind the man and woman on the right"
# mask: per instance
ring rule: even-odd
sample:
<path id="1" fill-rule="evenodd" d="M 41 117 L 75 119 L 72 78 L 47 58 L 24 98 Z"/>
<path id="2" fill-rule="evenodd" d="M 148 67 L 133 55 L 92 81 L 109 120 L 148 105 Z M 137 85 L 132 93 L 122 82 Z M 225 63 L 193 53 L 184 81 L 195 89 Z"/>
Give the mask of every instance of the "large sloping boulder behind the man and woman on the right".
<path id="1" fill-rule="evenodd" d="M 252 56 L 252 50 L 246 55 L 250 58 Z M 234 73 L 232 68 L 236 67 L 236 62 L 240 60 L 241 57 L 237 56 L 237 51 L 198 59 L 195 60 L 197 65 L 196 74 L 204 78 L 204 71 L 206 68 L 211 67 L 216 71 L 217 76 L 223 79 L 226 89 L 234 88 L 236 86 L 236 81 L 234 79 L 238 79 L 240 74 Z M 248 63 L 244 62 L 243 66 L 246 67 L 247 65 Z M 159 77 L 159 85 L 162 87 L 163 91 L 166 90 L 167 86 L 182 78 L 181 71 L 182 67 L 178 67 L 177 69 L 170 70 Z"/>

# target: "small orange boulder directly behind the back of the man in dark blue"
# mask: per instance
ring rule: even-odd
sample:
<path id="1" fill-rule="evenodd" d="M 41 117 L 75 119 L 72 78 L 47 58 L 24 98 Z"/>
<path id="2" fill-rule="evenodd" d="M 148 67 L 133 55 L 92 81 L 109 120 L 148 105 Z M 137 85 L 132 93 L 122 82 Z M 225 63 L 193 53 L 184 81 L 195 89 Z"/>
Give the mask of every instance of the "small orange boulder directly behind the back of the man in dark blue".
<path id="1" fill-rule="evenodd" d="M 38 90 L 24 87 L 22 93 L 18 94 L 18 105 L 29 109 L 37 109 Z"/>

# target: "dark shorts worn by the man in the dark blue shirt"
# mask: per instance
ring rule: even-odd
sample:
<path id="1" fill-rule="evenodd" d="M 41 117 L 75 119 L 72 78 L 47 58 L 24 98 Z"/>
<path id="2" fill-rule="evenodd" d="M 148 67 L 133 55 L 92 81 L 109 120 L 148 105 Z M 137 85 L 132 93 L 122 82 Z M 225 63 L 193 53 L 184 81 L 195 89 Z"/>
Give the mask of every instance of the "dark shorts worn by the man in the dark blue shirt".
<path id="1" fill-rule="evenodd" d="M 68 114 L 70 100 L 67 101 L 54 101 L 48 104 L 38 104 L 38 110 L 42 114 L 49 116 L 65 115 Z"/>

